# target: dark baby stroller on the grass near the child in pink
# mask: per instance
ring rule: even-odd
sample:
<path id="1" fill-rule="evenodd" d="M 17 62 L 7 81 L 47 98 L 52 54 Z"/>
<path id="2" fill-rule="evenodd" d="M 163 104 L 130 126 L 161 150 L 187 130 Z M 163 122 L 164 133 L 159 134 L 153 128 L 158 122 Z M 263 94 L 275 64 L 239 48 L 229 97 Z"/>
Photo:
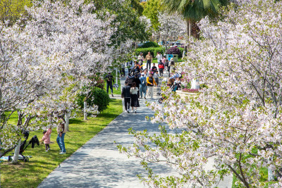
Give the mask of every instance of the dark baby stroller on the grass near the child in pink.
<path id="1" fill-rule="evenodd" d="M 30 142 L 28 142 L 27 144 L 27 139 L 28 136 L 30 135 L 30 132 L 25 131 L 23 132 L 23 135 L 25 137 L 25 140 L 20 144 L 20 155 L 18 156 L 18 160 L 24 161 L 24 162 L 28 162 L 30 161 L 29 158 L 30 156 L 23 156 L 23 152 L 25 151 L 25 149 L 27 148 L 28 145 L 32 144 L 32 148 L 35 148 L 35 144 L 37 144 L 37 146 L 39 146 L 39 140 L 37 138 L 37 136 L 33 136 L 32 139 L 30 139 Z M 8 161 L 12 161 L 13 160 L 13 156 L 8 156 Z"/>

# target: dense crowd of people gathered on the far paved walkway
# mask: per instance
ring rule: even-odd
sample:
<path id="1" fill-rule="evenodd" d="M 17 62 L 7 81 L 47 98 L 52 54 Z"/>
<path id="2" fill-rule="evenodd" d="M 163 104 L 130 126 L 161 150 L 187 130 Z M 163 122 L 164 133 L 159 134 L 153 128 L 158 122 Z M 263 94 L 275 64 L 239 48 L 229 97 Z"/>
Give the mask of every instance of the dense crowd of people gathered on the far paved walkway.
<path id="1" fill-rule="evenodd" d="M 153 99 L 153 88 L 159 87 L 159 77 L 164 76 L 164 71 L 168 73 L 168 80 L 172 80 L 173 84 L 177 84 L 176 89 L 180 87 L 180 77 L 177 73 L 171 75 L 175 70 L 173 58 L 168 61 L 161 53 L 157 53 L 157 62 L 152 63 L 152 55 L 148 52 L 144 58 L 142 52 L 136 61 L 128 62 L 128 75 L 125 79 L 125 87 L 121 91 L 121 97 L 124 99 L 125 112 L 137 113 L 137 107 L 140 106 L 140 99 Z M 145 66 L 146 61 L 146 68 Z M 151 68 L 152 65 L 152 68 Z M 174 89 L 173 89 L 174 90 Z"/>

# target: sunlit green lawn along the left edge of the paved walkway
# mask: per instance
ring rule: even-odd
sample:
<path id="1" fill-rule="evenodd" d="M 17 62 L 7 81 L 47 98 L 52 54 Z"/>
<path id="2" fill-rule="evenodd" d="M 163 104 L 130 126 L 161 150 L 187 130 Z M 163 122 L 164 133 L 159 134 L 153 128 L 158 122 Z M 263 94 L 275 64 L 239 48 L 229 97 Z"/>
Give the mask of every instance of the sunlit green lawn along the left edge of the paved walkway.
<path id="1" fill-rule="evenodd" d="M 32 156 L 28 163 L 20 161 L 18 165 L 8 162 L 1 163 L 1 187 L 37 187 L 52 170 L 73 152 L 80 148 L 85 142 L 94 137 L 95 134 L 104 129 L 114 118 L 122 113 L 121 100 L 111 99 L 109 108 L 97 115 L 97 118 L 89 118 L 86 122 L 82 114 L 70 120 L 70 132 L 66 133 L 66 155 L 59 154 L 59 146 L 56 144 L 56 129 L 51 133 L 51 151 L 45 152 L 44 144 L 28 146 L 24 152 L 25 156 Z M 15 121 L 15 120 L 14 120 Z M 30 132 L 30 140 L 34 135 L 42 139 L 42 130 Z M 8 155 L 11 153 L 8 153 Z"/>

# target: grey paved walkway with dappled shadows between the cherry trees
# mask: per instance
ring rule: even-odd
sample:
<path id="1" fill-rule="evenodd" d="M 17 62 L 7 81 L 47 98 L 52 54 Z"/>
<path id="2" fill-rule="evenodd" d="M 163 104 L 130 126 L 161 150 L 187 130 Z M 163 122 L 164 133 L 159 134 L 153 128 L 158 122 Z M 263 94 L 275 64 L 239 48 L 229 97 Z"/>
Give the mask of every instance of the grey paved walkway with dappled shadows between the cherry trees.
<path id="1" fill-rule="evenodd" d="M 118 97 L 120 96 L 115 96 L 115 98 Z M 154 100 L 157 98 L 159 96 L 155 95 Z M 119 153 L 114 142 L 123 146 L 133 144 L 133 136 L 128 135 L 130 127 L 133 127 L 134 130 L 146 129 L 151 134 L 159 132 L 157 124 L 145 120 L 147 115 L 152 116 L 153 112 L 145 106 L 145 100 L 142 99 L 136 114 L 123 112 L 119 115 L 102 132 L 99 132 L 66 161 L 63 161 L 39 184 L 39 188 L 145 187 L 136 176 L 137 174 L 146 175 L 140 165 L 140 160 L 128 158 L 125 154 Z M 170 168 L 159 164 L 154 165 L 154 172 L 159 175 L 174 173 Z M 219 187 L 230 187 L 228 184 L 230 180 L 222 182 Z"/>

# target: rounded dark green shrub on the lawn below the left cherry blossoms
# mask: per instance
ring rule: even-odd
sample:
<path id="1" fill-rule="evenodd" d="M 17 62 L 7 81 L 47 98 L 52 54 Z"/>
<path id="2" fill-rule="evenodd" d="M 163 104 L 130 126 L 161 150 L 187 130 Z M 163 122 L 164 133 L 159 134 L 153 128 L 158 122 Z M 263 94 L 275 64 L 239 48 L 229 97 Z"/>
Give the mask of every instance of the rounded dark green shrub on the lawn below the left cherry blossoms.
<path id="1" fill-rule="evenodd" d="M 83 109 L 84 108 L 84 99 L 85 94 L 78 94 L 77 96 L 77 102 L 78 106 Z M 92 94 L 90 95 L 89 99 L 87 99 L 87 105 L 93 106 L 94 104 L 98 106 L 98 111 L 102 112 L 108 108 L 110 102 L 109 94 L 106 93 L 103 89 L 100 89 L 99 87 L 94 87 L 92 89 Z"/>

